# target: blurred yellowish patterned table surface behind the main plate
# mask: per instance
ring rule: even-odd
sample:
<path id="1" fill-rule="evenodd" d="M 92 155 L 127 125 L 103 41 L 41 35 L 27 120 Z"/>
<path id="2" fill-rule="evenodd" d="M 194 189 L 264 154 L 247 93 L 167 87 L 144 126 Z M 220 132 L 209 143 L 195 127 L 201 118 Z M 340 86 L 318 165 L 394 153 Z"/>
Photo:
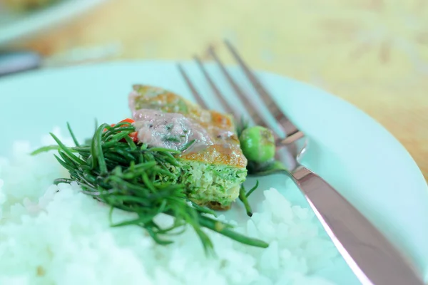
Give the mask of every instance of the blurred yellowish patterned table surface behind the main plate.
<path id="1" fill-rule="evenodd" d="M 319 86 L 364 110 L 428 178 L 428 1 L 266 3 L 111 0 L 15 45 L 53 64 L 85 49 L 102 60 L 208 58 L 212 45 L 233 63 L 222 43 L 230 38 L 253 68 Z"/>

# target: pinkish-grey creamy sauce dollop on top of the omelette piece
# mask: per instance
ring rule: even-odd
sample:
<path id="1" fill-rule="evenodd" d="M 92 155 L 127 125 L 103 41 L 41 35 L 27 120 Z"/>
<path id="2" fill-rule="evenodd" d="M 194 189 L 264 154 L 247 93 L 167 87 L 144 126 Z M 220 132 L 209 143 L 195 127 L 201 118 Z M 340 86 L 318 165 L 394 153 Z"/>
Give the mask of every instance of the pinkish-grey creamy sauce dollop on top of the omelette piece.
<path id="1" fill-rule="evenodd" d="M 151 147 L 182 150 L 192 140 L 186 152 L 198 151 L 213 145 L 210 134 L 200 124 L 179 113 L 164 113 L 160 110 L 141 109 L 133 114 L 138 140 Z"/>

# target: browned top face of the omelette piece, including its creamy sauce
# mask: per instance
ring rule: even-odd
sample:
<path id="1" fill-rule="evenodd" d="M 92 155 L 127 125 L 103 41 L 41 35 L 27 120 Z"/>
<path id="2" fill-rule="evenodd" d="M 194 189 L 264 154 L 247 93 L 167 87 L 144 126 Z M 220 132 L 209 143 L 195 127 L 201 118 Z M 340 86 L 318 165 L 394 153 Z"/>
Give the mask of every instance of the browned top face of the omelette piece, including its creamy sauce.
<path id="1" fill-rule="evenodd" d="M 182 150 L 195 140 L 180 154 L 184 160 L 247 165 L 229 115 L 205 110 L 168 90 L 144 85 L 133 86 L 128 104 L 139 142 Z"/>

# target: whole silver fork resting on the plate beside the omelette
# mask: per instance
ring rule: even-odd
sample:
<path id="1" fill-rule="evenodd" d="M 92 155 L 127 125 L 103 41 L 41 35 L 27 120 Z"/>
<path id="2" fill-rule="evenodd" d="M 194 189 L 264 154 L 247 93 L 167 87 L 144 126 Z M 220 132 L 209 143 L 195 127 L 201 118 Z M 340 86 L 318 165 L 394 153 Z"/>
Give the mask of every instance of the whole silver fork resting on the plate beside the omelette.
<path id="1" fill-rule="evenodd" d="M 284 171 L 284 173 L 295 182 L 305 195 L 322 227 L 361 283 L 374 285 L 424 284 L 409 260 L 368 219 L 320 176 L 300 165 L 300 156 L 306 147 L 305 135 L 277 107 L 270 93 L 263 87 L 236 49 L 228 41 L 225 41 L 225 44 L 257 91 L 260 99 L 270 110 L 270 114 L 275 118 L 277 125 L 286 134 L 285 137 L 282 137 L 280 132 L 275 132 L 277 147 L 287 147 L 289 150 L 288 155 L 282 157 L 282 160 L 287 160 L 285 164 L 288 167 L 288 171 Z M 249 95 L 243 92 L 243 89 L 230 76 L 213 48 L 210 48 L 209 52 L 240 99 L 240 103 L 250 113 L 254 123 L 267 126 L 268 123 L 265 118 L 250 104 Z M 195 61 L 225 111 L 236 116 L 235 108 L 225 100 L 225 96 L 215 85 L 203 63 L 198 57 L 195 57 Z M 197 102 L 204 108 L 209 108 L 180 64 L 178 64 L 178 69 Z"/>

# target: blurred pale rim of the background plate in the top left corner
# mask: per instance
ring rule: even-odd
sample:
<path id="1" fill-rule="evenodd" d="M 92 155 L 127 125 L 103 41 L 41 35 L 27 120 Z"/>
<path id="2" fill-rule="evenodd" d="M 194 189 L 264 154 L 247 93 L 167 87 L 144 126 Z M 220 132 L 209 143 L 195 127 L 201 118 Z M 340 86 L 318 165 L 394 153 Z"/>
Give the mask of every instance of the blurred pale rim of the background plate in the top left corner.
<path id="1" fill-rule="evenodd" d="M 0 46 L 34 36 L 106 0 L 62 0 L 43 9 L 16 13 L 0 4 Z"/>

